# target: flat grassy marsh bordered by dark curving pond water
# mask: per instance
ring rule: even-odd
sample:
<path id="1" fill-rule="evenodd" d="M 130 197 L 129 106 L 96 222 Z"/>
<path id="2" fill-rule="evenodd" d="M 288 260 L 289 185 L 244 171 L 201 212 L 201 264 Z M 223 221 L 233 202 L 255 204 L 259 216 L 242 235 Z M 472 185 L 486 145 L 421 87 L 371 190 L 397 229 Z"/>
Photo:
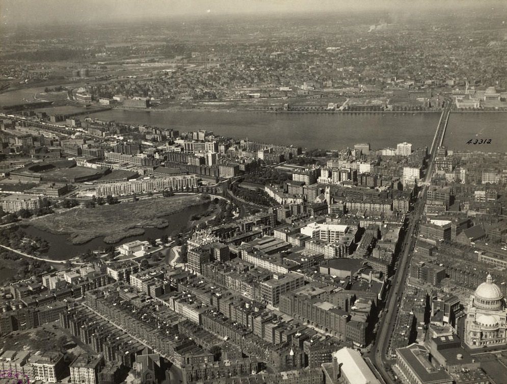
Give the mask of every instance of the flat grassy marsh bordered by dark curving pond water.
<path id="1" fill-rule="evenodd" d="M 114 243 L 122 238 L 144 233 L 141 227 L 164 227 L 161 218 L 186 207 L 203 204 L 202 195 L 153 198 L 95 208 L 81 208 L 37 218 L 30 224 L 56 234 L 69 234 L 70 241 L 81 244 L 95 237 Z"/>

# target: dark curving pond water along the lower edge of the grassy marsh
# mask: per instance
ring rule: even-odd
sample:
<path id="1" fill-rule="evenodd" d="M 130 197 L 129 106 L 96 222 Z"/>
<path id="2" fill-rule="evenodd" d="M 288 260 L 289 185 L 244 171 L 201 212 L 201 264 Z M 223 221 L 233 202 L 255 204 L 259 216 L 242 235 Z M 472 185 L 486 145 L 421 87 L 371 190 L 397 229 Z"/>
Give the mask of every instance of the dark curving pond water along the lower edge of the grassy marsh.
<path id="1" fill-rule="evenodd" d="M 202 214 L 206 211 L 208 205 L 209 203 L 196 205 L 185 208 L 180 212 L 164 216 L 169 223 L 169 226 L 166 228 L 144 228 L 145 233 L 143 235 L 126 237 L 114 244 L 105 243 L 103 237 L 96 237 L 84 244 L 72 244 L 69 241 L 68 235 L 65 234 L 52 234 L 34 226 L 25 226 L 22 230 L 30 237 L 38 236 L 48 242 L 49 249 L 47 252 L 41 254 L 42 257 L 48 257 L 54 260 L 67 260 L 81 255 L 88 250 L 100 250 L 110 245 L 118 246 L 127 241 L 146 240 L 147 238 L 157 239 L 163 235 L 174 236 L 188 228 L 192 215 Z"/>

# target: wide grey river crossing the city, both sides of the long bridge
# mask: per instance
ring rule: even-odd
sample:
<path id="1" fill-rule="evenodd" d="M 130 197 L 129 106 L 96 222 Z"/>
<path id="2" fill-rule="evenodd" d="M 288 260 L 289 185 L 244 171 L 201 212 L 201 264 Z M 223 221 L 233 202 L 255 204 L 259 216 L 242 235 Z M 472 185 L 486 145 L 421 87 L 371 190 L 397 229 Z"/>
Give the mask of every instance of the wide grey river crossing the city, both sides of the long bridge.
<path id="1" fill-rule="evenodd" d="M 265 113 L 211 111 L 126 111 L 112 109 L 90 115 L 128 124 L 147 124 L 179 131 L 206 129 L 216 134 L 313 149 L 342 149 L 370 143 L 372 149 L 409 142 L 431 146 L 439 113 Z M 507 114 L 451 113 L 444 145 L 459 151 L 504 152 Z M 488 145 L 467 145 L 470 139 L 492 139 Z"/>

